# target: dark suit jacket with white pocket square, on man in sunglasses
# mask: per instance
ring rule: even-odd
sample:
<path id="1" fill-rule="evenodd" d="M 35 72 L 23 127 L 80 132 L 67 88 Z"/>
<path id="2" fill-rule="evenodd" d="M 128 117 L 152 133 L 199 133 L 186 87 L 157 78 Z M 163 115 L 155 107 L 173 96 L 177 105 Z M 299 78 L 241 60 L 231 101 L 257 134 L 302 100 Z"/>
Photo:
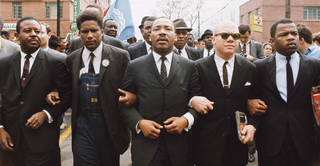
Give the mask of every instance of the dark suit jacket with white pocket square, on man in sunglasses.
<path id="1" fill-rule="evenodd" d="M 208 114 L 200 115 L 193 128 L 192 157 L 196 165 L 220 165 L 228 133 L 233 164 L 243 166 L 248 163 L 248 145 L 242 144 L 238 138 L 235 112 L 245 113 L 248 125 L 258 126 L 259 119 L 247 112 L 248 98 L 257 98 L 258 70 L 250 61 L 235 55 L 230 89 L 226 95 L 214 56 L 196 61 L 202 96 L 214 105 Z M 251 85 L 244 86 L 247 82 Z"/>

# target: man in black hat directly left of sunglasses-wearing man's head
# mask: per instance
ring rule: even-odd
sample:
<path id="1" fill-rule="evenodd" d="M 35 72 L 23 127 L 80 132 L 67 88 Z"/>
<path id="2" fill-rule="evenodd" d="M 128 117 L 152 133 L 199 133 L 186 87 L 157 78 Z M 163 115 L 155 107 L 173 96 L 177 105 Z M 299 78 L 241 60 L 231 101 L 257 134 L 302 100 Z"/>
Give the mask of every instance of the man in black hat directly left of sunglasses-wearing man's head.
<path id="1" fill-rule="evenodd" d="M 201 36 L 201 39 L 204 41 L 205 44 L 205 47 L 199 50 L 201 58 L 208 57 L 215 52 L 211 39 L 212 36 L 212 30 L 210 29 L 205 30 L 204 34 Z"/>

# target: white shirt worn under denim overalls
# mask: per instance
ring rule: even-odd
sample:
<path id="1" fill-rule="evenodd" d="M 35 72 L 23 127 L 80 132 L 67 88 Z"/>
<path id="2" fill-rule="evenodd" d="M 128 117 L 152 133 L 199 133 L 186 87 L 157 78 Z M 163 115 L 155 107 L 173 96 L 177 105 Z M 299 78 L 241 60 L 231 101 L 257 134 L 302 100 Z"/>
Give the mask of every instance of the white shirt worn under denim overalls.
<path id="1" fill-rule="evenodd" d="M 89 63 L 90 63 L 90 59 L 91 59 L 90 53 L 91 53 L 91 51 L 89 51 L 87 48 L 84 47 L 84 51 L 82 52 L 82 59 L 84 61 L 84 66 L 85 67 L 83 69 L 80 69 L 79 78 L 80 78 L 83 70 L 86 73 L 88 73 L 88 71 L 89 71 Z M 96 48 L 92 53 L 95 56 L 95 58 L 93 58 L 94 72 L 95 72 L 95 74 L 99 74 L 99 72 L 100 72 L 100 64 L 101 64 L 101 57 L 102 57 L 102 42 L 100 43 L 98 48 Z"/>

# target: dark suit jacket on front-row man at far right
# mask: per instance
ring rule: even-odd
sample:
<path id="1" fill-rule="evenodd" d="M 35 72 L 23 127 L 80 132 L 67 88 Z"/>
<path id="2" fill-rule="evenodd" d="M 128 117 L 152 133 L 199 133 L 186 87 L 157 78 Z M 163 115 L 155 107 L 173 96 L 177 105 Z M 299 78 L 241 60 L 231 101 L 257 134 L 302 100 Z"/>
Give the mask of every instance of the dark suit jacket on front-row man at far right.
<path id="1" fill-rule="evenodd" d="M 302 160 L 313 160 L 316 149 L 316 128 L 311 100 L 311 87 L 320 83 L 320 60 L 300 54 L 299 72 L 292 96 L 286 103 L 276 85 L 276 55 L 254 61 L 259 71 L 259 94 L 268 110 L 257 129 L 259 154 L 275 156 L 284 141 L 287 124 Z"/>

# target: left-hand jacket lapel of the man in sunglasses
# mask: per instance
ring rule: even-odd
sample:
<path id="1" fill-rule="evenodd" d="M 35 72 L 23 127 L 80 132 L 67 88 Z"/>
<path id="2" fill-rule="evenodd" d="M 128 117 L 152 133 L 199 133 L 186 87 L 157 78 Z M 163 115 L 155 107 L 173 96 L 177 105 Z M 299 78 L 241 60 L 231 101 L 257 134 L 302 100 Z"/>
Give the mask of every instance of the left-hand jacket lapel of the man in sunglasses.
<path id="1" fill-rule="evenodd" d="M 209 75 L 212 77 L 212 80 L 214 81 L 214 83 L 217 85 L 217 87 L 219 88 L 219 90 L 221 91 L 221 93 L 225 96 L 226 92 L 223 89 L 223 85 L 221 83 L 221 78 L 218 72 L 218 68 L 217 68 L 217 64 L 216 61 L 214 60 L 214 56 L 210 56 L 209 60 L 209 67 L 208 67 L 208 73 Z"/>

